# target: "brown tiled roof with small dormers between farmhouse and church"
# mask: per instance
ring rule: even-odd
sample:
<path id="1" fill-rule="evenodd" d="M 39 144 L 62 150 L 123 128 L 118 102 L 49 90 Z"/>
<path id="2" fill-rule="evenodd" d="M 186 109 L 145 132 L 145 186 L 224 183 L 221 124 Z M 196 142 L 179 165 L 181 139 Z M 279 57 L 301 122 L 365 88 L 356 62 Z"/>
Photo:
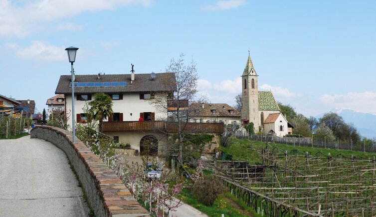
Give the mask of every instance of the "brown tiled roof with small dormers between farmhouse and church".
<path id="1" fill-rule="evenodd" d="M 196 117 L 240 117 L 240 112 L 226 103 L 192 103 L 190 110 Z"/>

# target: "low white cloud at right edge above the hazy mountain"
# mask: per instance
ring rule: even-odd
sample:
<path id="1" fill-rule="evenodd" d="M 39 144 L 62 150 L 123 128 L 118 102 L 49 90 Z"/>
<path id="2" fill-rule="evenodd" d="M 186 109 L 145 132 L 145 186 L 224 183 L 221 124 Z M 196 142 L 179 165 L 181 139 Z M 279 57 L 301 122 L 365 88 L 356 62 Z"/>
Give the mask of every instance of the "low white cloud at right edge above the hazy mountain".
<path id="1" fill-rule="evenodd" d="M 325 94 L 320 97 L 320 102 L 336 109 L 351 109 L 376 115 L 376 92 Z"/>

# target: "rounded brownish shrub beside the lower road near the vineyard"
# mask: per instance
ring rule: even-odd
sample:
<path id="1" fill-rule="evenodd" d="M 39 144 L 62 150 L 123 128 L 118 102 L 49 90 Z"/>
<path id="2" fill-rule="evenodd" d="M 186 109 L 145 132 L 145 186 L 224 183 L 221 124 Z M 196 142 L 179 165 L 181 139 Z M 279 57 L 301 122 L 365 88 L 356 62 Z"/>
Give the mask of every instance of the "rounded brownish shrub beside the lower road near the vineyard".
<path id="1" fill-rule="evenodd" d="M 192 189 L 196 199 L 206 206 L 212 206 L 218 195 L 223 192 L 225 192 L 223 184 L 214 176 L 208 176 L 204 180 L 197 180 Z"/>

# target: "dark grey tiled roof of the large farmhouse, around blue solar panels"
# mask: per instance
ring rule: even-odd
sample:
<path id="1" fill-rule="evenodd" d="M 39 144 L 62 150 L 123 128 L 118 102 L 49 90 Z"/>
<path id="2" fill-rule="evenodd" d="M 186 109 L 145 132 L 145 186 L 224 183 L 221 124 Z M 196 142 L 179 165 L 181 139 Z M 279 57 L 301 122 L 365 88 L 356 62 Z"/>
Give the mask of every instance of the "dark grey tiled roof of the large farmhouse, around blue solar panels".
<path id="1" fill-rule="evenodd" d="M 98 77 L 100 77 L 98 79 Z M 75 75 L 75 82 L 126 82 L 124 86 L 77 87 L 75 93 L 124 93 L 124 92 L 164 92 L 176 91 L 174 73 L 156 73 L 155 78 L 150 74 L 135 74 L 131 82 L 131 74 Z M 71 75 L 61 75 L 55 94 L 71 94 Z"/>

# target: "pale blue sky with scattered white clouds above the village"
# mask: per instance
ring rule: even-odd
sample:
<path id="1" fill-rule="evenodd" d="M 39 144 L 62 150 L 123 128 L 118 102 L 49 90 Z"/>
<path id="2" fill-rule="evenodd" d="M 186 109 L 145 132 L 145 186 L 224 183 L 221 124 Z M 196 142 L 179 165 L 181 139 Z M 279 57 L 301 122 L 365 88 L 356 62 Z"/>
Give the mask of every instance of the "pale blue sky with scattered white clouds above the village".
<path id="1" fill-rule="evenodd" d="M 305 116 L 376 115 L 376 1 L 0 0 L 0 94 L 42 112 L 66 47 L 76 74 L 165 72 L 185 54 L 198 92 L 234 105 L 248 49 L 261 90 Z"/>

